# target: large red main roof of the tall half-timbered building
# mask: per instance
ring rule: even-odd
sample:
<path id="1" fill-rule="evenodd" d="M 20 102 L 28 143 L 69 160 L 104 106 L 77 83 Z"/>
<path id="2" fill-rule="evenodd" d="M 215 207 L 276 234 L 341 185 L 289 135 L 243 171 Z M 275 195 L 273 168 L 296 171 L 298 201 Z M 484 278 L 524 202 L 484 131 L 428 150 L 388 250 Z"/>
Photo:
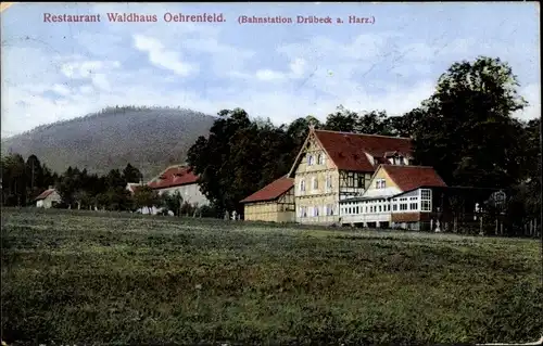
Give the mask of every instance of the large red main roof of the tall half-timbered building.
<path id="1" fill-rule="evenodd" d="M 380 164 L 380 157 L 386 153 L 397 152 L 412 156 L 412 141 L 408 138 L 386 137 L 378 134 L 361 134 L 315 130 L 315 134 L 324 149 L 330 155 L 338 169 L 354 171 L 375 171 L 365 153 L 378 157 L 375 165 Z"/>

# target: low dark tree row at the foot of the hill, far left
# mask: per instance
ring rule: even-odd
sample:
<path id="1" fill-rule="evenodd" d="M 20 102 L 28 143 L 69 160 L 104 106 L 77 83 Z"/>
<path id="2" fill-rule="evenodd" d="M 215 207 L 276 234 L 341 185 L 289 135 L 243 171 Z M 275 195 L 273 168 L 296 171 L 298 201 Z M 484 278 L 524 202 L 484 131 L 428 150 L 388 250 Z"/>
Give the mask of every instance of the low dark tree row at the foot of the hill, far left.
<path id="1" fill-rule="evenodd" d="M 127 183 L 140 182 L 142 175 L 131 164 L 122 170 L 111 169 L 106 175 L 90 174 L 87 169 L 68 167 L 62 175 L 53 172 L 36 155 L 23 158 L 9 154 L 1 159 L 2 206 L 34 205 L 36 197 L 53 188 L 61 195 L 59 208 L 134 212 L 142 208 L 164 209 L 176 215 L 210 216 L 213 209 L 191 205 L 176 192 L 159 195 L 148 185 L 137 185 L 130 193 Z"/>

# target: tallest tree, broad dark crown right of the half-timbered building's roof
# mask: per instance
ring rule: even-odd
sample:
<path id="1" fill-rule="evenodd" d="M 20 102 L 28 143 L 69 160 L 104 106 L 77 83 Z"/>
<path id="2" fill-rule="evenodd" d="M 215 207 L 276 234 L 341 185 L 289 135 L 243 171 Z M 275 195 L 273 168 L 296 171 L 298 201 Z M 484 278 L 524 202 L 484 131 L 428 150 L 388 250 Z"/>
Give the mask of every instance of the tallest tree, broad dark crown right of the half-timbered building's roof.
<path id="1" fill-rule="evenodd" d="M 504 188 L 520 178 L 521 126 L 512 117 L 526 102 L 500 59 L 453 64 L 417 110 L 415 156 L 449 184 Z"/>

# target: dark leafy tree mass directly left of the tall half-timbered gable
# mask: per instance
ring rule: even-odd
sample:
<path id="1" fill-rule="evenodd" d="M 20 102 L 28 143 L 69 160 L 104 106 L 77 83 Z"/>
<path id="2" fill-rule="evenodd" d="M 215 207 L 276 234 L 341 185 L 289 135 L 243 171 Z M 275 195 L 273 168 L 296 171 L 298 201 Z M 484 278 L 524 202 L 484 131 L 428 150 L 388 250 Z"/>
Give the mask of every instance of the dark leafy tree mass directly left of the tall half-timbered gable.
<path id="1" fill-rule="evenodd" d="M 239 201 L 288 172 L 301 145 L 299 136 L 314 119 L 306 117 L 286 128 L 252 123 L 239 108 L 222 111 L 219 116 L 209 138 L 200 137 L 190 148 L 188 163 L 217 209 L 243 213 Z"/>

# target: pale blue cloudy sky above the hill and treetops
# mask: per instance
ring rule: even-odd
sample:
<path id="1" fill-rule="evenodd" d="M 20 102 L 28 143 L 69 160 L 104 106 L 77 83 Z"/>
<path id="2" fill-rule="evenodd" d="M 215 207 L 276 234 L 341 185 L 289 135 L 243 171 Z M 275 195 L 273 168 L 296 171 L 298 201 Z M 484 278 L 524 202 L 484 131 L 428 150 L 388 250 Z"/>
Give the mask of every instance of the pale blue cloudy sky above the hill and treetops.
<path id="1" fill-rule="evenodd" d="M 46 13 L 101 21 L 47 23 Z M 157 22 L 112 23 L 108 13 Z M 225 22 L 166 23 L 166 13 Z M 240 24 L 241 15 L 294 23 Z M 539 33 L 534 2 L 16 3 L 1 13 L 1 136 L 114 105 L 241 107 L 275 124 L 325 119 L 339 105 L 402 115 L 454 62 L 479 55 L 512 66 L 530 104 L 516 116 L 530 119 L 541 116 Z"/>

